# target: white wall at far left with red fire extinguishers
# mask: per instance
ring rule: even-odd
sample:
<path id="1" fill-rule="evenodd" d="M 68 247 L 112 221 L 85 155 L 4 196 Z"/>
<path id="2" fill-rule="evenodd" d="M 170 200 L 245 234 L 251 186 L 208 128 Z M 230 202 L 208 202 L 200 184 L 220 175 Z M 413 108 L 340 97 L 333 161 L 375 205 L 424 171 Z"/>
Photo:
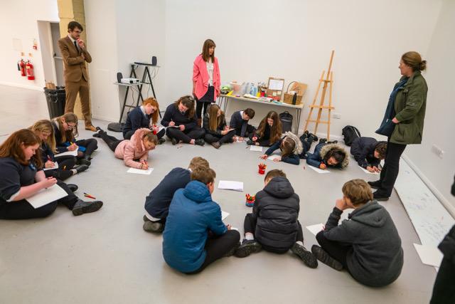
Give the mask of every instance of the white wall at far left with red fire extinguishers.
<path id="1" fill-rule="evenodd" d="M 2 1 L 0 9 L 1 47 L 0 84 L 22 88 L 43 90 L 45 85 L 41 46 L 38 36 L 38 20 L 59 21 L 57 0 L 15 0 Z M 35 80 L 27 80 L 17 70 L 21 59 L 19 51 L 13 47 L 13 38 L 22 41 L 25 60 L 30 59 L 35 70 Z M 33 50 L 33 39 L 38 41 L 38 50 Z M 32 53 L 32 57 L 28 56 Z"/>

